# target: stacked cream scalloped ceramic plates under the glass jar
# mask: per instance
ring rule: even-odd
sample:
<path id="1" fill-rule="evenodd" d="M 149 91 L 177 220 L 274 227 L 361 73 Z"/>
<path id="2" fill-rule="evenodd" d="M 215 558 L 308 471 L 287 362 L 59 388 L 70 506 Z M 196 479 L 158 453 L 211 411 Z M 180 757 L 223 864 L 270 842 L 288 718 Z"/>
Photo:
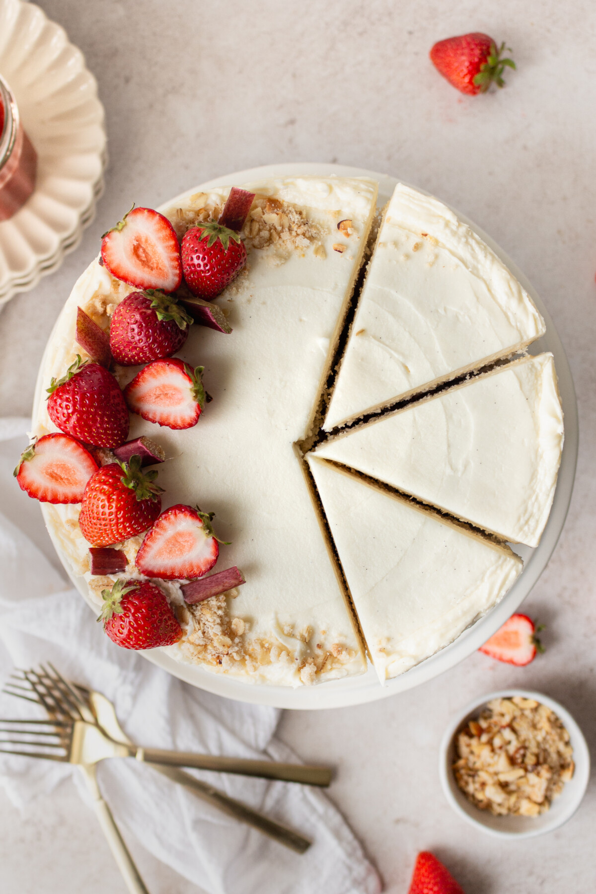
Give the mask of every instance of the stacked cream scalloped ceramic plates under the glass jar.
<path id="1" fill-rule="evenodd" d="M 95 214 L 104 107 L 85 58 L 35 4 L 0 0 L 0 74 L 38 153 L 33 195 L 0 223 L 0 306 L 60 266 Z"/>

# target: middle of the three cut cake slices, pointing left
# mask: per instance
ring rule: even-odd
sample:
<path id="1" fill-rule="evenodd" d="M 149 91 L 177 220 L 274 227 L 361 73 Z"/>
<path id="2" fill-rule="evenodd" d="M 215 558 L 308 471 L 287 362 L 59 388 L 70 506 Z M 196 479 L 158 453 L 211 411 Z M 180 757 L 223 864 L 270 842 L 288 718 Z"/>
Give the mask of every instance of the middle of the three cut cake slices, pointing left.
<path id="1" fill-rule="evenodd" d="M 526 357 L 348 430 L 315 452 L 505 540 L 537 546 L 563 447 L 552 354 Z"/>

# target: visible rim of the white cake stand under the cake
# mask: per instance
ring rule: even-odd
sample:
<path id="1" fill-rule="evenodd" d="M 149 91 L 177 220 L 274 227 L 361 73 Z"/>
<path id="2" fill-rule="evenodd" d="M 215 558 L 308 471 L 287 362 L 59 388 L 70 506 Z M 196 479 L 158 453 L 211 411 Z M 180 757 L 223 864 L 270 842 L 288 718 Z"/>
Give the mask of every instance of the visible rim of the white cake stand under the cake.
<path id="1" fill-rule="evenodd" d="M 390 177 L 386 174 L 367 171 L 364 168 L 347 167 L 340 164 L 270 164 L 264 167 L 252 168 L 249 171 L 240 171 L 230 174 L 226 177 L 219 177 L 217 180 L 209 181 L 200 187 L 194 187 L 183 197 L 188 198 L 194 192 L 205 190 L 214 186 L 232 186 L 239 185 L 252 180 L 261 180 L 264 177 L 295 177 L 300 174 L 318 174 L 320 176 L 328 176 L 336 174 L 343 177 L 373 177 L 379 181 L 379 205 L 383 206 L 390 198 L 393 190 L 399 182 L 397 178 Z M 172 205 L 176 205 L 178 198 L 172 199 L 162 207 L 165 210 Z M 180 204 L 182 202 L 180 201 Z M 453 209 L 456 211 L 456 209 Z M 537 308 L 541 311 L 546 322 L 546 334 L 532 345 L 532 353 L 539 354 L 541 351 L 550 350 L 555 358 L 555 366 L 558 374 L 558 387 L 561 394 L 563 404 L 563 412 L 565 414 L 565 446 L 563 448 L 563 456 L 561 466 L 558 472 L 557 490 L 555 499 L 550 511 L 550 518 L 544 533 L 541 537 L 540 545 L 536 549 L 521 544 L 512 544 L 513 549 L 523 558 L 525 568 L 519 578 L 517 578 L 514 586 L 511 587 L 508 594 L 501 600 L 496 608 L 492 609 L 487 615 L 476 621 L 470 628 L 464 631 L 461 636 L 457 637 L 455 642 L 446 646 L 441 652 L 427 658 L 407 671 L 400 677 L 388 680 L 384 686 L 381 686 L 379 679 L 372 665 L 369 665 L 368 671 L 360 677 L 348 677 L 346 679 L 332 680 L 329 683 L 323 683 L 319 686 L 305 686 L 297 689 L 286 687 L 260 686 L 250 683 L 239 682 L 237 679 L 226 677 L 223 674 L 215 674 L 206 671 L 196 665 L 181 664 L 164 652 L 162 649 L 153 649 L 143 654 L 148 661 L 153 662 L 158 667 L 164 668 L 164 671 L 172 673 L 175 677 L 185 680 L 192 686 L 206 689 L 218 696 L 234 698 L 240 702 L 251 702 L 253 704 L 270 704 L 280 708 L 294 708 L 303 710 L 313 710 L 315 708 L 338 708 L 346 707 L 350 704 L 362 704 L 364 702 L 374 702 L 380 698 L 387 698 L 395 693 L 403 692 L 415 686 L 420 686 L 427 680 L 437 677 L 443 671 L 448 671 L 457 662 L 463 661 L 468 655 L 476 651 L 486 640 L 495 633 L 499 627 L 512 615 L 519 605 L 525 600 L 533 585 L 541 576 L 543 569 L 550 559 L 550 555 L 557 545 L 558 537 L 565 524 L 569 502 L 571 501 L 571 492 L 573 490 L 575 478 L 575 464 L 577 461 L 577 405 L 575 402 L 575 391 L 571 371 L 567 363 L 567 357 L 563 345 L 558 338 L 557 331 L 550 319 L 550 316 L 544 308 L 541 299 L 536 294 L 532 285 L 527 281 L 525 275 L 517 268 L 513 261 L 505 254 L 499 246 L 487 236 L 480 227 L 472 223 L 465 215 L 456 211 L 460 220 L 465 221 L 483 239 L 491 249 L 502 259 L 508 266 L 509 270 L 516 276 L 525 290 L 532 296 Z M 51 337 L 50 337 L 51 341 Z M 42 358 L 40 366 L 43 370 L 45 366 L 45 358 Z M 36 398 L 33 409 L 33 418 L 37 416 L 38 401 L 43 398 L 44 382 L 42 375 L 38 376 L 38 384 L 36 389 Z M 43 503 L 41 504 L 43 511 Z M 55 548 L 63 562 L 64 568 L 68 572 L 68 562 L 66 561 L 59 544 L 55 541 Z M 69 572 L 70 574 L 70 572 Z M 85 578 L 72 577 L 72 582 L 80 590 L 81 595 L 87 602 L 94 607 L 88 595 L 88 586 Z"/>

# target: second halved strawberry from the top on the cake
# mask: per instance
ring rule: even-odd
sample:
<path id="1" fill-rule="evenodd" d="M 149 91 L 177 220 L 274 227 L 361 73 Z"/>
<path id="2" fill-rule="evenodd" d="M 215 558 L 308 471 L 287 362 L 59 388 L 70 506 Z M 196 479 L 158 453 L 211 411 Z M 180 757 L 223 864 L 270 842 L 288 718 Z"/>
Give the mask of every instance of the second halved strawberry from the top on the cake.
<path id="1" fill-rule="evenodd" d="M 189 367 L 178 358 L 154 360 L 124 389 L 133 413 L 168 428 L 192 428 L 203 412 L 206 392 L 203 367 Z"/>

